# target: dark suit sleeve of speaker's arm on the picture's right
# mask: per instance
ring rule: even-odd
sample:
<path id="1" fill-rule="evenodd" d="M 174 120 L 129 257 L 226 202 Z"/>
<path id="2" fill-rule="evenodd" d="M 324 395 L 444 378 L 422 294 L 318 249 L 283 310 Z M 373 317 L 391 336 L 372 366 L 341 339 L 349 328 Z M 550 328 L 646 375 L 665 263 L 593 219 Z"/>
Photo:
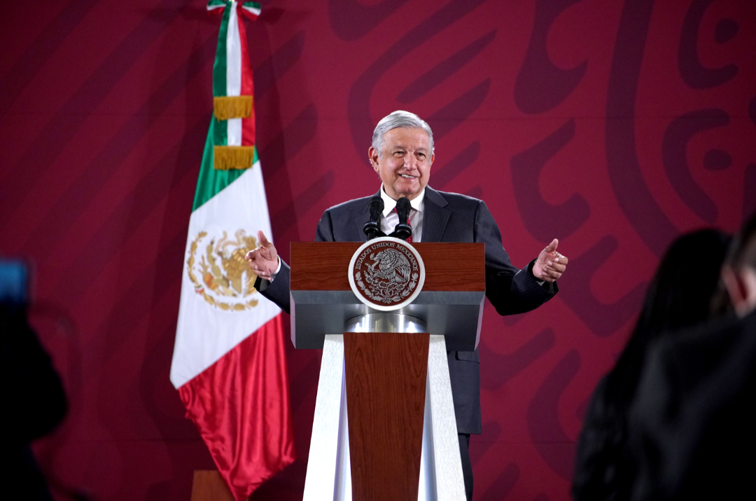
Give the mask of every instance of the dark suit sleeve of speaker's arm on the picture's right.
<path id="1" fill-rule="evenodd" d="M 534 310 L 559 291 L 556 283 L 541 285 L 535 279 L 534 261 L 523 269 L 511 263 L 494 216 L 482 201 L 475 218 L 475 241 L 485 244 L 485 295 L 500 315 Z"/>

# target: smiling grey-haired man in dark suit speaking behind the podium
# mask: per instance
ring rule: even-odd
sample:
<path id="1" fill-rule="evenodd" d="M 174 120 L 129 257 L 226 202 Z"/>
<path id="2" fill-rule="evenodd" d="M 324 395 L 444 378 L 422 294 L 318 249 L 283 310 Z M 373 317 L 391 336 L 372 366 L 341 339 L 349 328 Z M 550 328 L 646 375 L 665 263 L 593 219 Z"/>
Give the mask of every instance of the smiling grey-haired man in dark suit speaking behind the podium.
<path id="1" fill-rule="evenodd" d="M 556 280 L 568 261 L 557 252 L 556 238 L 541 250 L 537 259 L 518 269 L 510 262 L 499 228 L 483 201 L 435 191 L 428 186 L 435 160 L 433 133 L 420 117 L 395 111 L 380 120 L 373 132 L 368 160 L 382 182 L 378 191 L 383 199 L 380 229 L 386 235 L 399 222 L 396 201 L 406 197 L 411 203 L 408 218 L 411 241 L 485 244 L 485 295 L 500 315 L 534 310 L 556 294 Z M 367 221 L 365 214 L 369 213 L 367 207 L 373 197 L 346 201 L 326 210 L 318 222 L 315 240 L 364 241 L 361 228 Z M 290 268 L 280 260 L 276 248 L 262 232 L 258 232 L 258 238 L 260 246 L 246 255 L 249 267 L 259 277 L 255 286 L 288 313 Z M 469 436 L 482 432 L 478 351 L 449 351 L 448 366 L 465 490 L 467 498 L 472 499 Z"/>

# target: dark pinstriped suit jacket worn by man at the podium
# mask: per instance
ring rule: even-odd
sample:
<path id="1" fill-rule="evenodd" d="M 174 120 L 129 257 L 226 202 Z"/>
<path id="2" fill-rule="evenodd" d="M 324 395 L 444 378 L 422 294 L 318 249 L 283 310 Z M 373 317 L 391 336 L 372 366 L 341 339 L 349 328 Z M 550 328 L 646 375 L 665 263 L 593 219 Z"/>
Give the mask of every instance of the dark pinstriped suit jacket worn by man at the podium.
<path id="1" fill-rule="evenodd" d="M 362 227 L 370 219 L 371 197 L 358 198 L 326 210 L 315 241 L 365 241 Z M 461 194 L 426 187 L 423 242 L 482 242 L 485 244 L 485 295 L 500 315 L 524 313 L 550 300 L 556 284 L 538 284 L 531 273 L 510 263 L 499 227 L 485 203 Z M 260 293 L 289 312 L 289 266 L 282 263 L 274 282 L 258 282 Z M 478 351 L 448 352 L 451 391 L 459 433 L 481 433 L 480 360 Z"/>

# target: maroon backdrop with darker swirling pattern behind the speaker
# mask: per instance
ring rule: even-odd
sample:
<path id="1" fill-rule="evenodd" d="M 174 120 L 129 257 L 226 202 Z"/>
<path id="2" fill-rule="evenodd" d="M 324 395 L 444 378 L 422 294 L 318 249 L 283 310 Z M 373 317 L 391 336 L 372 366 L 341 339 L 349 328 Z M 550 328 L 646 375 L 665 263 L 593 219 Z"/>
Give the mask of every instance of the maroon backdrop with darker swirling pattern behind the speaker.
<path id="1" fill-rule="evenodd" d="M 59 499 L 188 501 L 213 466 L 168 378 L 212 109 L 205 4 L 0 14 L 0 249 L 36 263 L 33 322 L 70 396 L 36 446 Z M 559 238 L 555 300 L 486 308 L 470 448 L 476 499 L 566 499 L 587 398 L 665 247 L 756 209 L 754 2 L 273 0 L 247 33 L 284 258 L 376 191 L 370 133 L 395 109 L 430 123 L 430 185 L 484 199 L 514 263 Z M 321 354 L 287 356 L 299 459 L 253 499 L 301 499 Z"/>

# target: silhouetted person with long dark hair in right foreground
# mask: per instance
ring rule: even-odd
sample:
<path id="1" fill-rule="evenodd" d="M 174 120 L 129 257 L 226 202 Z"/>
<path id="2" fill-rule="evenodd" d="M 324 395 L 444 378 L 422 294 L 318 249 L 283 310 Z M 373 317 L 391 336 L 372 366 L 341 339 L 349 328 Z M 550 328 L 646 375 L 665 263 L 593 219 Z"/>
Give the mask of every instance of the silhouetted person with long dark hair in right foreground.
<path id="1" fill-rule="evenodd" d="M 714 229 L 678 238 L 659 263 L 627 345 L 599 382 L 578 440 L 572 496 L 628 499 L 635 465 L 627 449 L 627 412 L 652 341 L 708 320 L 730 237 Z"/>

